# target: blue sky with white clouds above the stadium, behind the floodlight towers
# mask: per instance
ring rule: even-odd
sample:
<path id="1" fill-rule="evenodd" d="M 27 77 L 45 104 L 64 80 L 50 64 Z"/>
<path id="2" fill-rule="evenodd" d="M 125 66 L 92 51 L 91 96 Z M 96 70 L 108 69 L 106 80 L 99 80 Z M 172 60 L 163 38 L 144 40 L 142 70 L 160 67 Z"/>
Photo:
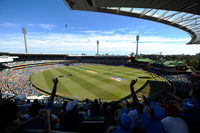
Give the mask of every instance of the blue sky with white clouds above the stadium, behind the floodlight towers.
<path id="1" fill-rule="evenodd" d="M 66 26 L 67 25 L 67 26 Z M 73 11 L 63 0 L 0 0 L 0 51 L 24 52 L 21 28 L 27 29 L 29 53 L 128 55 L 140 35 L 141 54 L 196 54 L 190 36 L 174 27 L 118 15 Z"/>

